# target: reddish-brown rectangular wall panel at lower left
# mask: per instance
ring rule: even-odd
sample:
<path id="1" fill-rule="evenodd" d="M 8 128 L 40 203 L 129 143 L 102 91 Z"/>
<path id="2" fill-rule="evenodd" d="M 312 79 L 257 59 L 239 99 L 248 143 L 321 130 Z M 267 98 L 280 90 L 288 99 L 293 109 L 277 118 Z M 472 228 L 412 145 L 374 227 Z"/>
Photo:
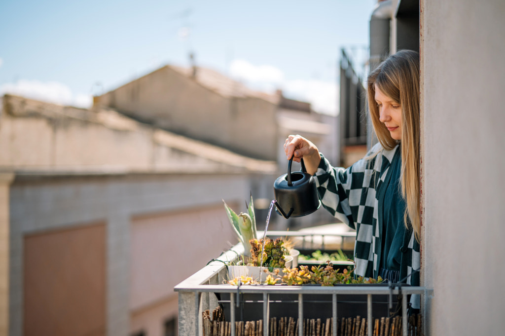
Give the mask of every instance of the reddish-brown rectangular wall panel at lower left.
<path id="1" fill-rule="evenodd" d="M 104 223 L 25 235 L 23 334 L 106 334 Z"/>

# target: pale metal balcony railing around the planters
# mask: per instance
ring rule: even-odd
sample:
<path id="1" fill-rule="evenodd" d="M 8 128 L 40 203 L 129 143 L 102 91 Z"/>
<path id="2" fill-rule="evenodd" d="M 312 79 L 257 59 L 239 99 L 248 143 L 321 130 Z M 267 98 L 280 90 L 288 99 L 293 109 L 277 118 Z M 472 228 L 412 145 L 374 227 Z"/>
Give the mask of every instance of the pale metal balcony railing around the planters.
<path id="1" fill-rule="evenodd" d="M 284 232 L 284 231 L 269 231 L 267 236 L 315 236 L 314 233 L 299 233 L 296 232 Z M 319 234 L 321 235 L 321 234 Z M 341 236 L 341 234 L 324 234 L 324 236 Z M 346 234 L 344 234 L 346 235 Z M 352 234 L 350 234 L 352 235 Z M 304 239 L 305 240 L 305 239 Z M 343 239 L 342 239 L 343 240 Z M 324 241 L 324 239 L 323 239 Z M 410 295 L 420 295 L 421 302 L 423 299 L 430 295 L 431 291 L 424 287 L 412 287 L 412 286 L 402 286 L 398 287 L 395 285 L 363 285 L 363 286 L 351 286 L 342 285 L 334 287 L 324 287 L 324 286 L 266 286 L 266 285 L 255 285 L 255 286 L 231 286 L 228 284 L 223 284 L 223 280 L 227 279 L 227 266 L 226 264 L 236 262 L 240 255 L 243 254 L 243 247 L 241 244 L 237 244 L 230 250 L 221 254 L 218 258 L 213 259 L 204 268 L 201 268 L 198 272 L 193 274 L 191 277 L 187 278 L 180 284 L 178 284 L 174 290 L 178 292 L 179 296 L 179 335 L 203 335 L 203 312 L 206 310 L 213 311 L 216 307 L 223 303 L 228 307 L 228 318 L 230 320 L 230 334 L 232 336 L 236 335 L 235 322 L 237 321 L 236 309 L 231 307 L 238 307 L 240 304 L 256 304 L 255 307 L 262 307 L 263 316 L 263 335 L 270 335 L 270 320 L 271 320 L 271 309 L 274 305 L 288 304 L 288 302 L 279 301 L 279 297 L 289 297 L 289 304 L 297 305 L 297 318 L 298 321 L 304 321 L 304 316 L 307 312 L 304 312 L 304 302 L 307 300 L 314 300 L 314 297 L 325 297 L 326 303 L 331 304 L 331 324 L 330 334 L 333 336 L 337 335 L 337 318 L 341 317 L 341 312 L 337 310 L 338 305 L 342 298 L 346 298 L 349 295 L 360 295 L 366 297 L 366 320 L 367 329 L 366 334 L 368 336 L 373 336 L 373 305 L 374 297 L 381 296 L 382 298 L 389 298 L 389 308 L 391 307 L 391 302 L 397 297 L 401 297 L 401 334 L 403 336 L 409 335 L 409 323 L 408 323 L 408 296 Z M 254 297 L 255 299 L 244 300 L 240 299 L 241 296 L 248 295 L 248 297 Z M 401 295 L 401 296 L 399 296 Z M 226 300 L 219 300 L 218 296 L 221 298 L 226 297 Z M 310 299 L 304 299 L 308 298 Z M 331 298 L 331 300 L 328 300 Z M 421 310 L 422 313 L 422 310 Z M 422 314 L 425 318 L 425 314 Z M 377 317 L 377 316 L 375 316 Z M 426 325 L 426 321 L 423 320 L 423 325 Z M 297 334 L 304 335 L 302 323 L 297 323 Z M 340 333 L 338 333 L 340 334 Z M 358 334 L 358 333 L 357 333 Z"/>

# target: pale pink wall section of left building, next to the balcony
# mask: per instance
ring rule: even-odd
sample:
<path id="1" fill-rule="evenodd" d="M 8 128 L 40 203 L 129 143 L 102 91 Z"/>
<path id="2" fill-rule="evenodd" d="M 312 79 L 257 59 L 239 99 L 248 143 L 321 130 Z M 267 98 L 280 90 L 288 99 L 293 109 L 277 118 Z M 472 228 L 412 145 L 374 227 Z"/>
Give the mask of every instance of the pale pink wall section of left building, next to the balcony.
<path id="1" fill-rule="evenodd" d="M 236 202 L 229 204 L 239 211 Z M 245 208 L 243 209 L 245 210 Z M 173 288 L 224 251 L 230 224 L 223 205 L 134 217 L 131 225 L 130 311 L 132 332 L 162 334 L 164 321 L 177 316 Z M 223 233 L 226 233 L 223 236 Z M 203 249 L 205 247 L 205 249 Z M 217 251 L 212 255 L 208 251 Z M 204 253 L 203 253 L 204 252 Z M 199 269 L 198 268 L 198 269 Z"/>

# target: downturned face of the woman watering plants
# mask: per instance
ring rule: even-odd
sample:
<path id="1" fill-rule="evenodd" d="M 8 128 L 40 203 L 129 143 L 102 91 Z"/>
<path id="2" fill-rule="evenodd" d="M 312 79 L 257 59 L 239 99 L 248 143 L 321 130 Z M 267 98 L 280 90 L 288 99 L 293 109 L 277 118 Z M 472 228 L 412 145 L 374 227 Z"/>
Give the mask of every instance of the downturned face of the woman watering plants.
<path id="1" fill-rule="evenodd" d="M 391 138 L 401 140 L 401 106 L 375 85 L 375 102 L 379 108 L 379 120 L 386 125 Z"/>

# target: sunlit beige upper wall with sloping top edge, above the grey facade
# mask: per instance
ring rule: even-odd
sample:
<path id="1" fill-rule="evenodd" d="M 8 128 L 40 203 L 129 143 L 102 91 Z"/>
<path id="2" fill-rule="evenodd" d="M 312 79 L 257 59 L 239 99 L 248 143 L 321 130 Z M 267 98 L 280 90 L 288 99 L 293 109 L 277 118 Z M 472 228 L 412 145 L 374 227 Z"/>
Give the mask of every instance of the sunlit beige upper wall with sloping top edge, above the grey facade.
<path id="1" fill-rule="evenodd" d="M 275 170 L 275 163 L 176 136 L 113 110 L 90 111 L 16 96 L 5 96 L 3 103 L 3 169 L 101 173 Z"/>

